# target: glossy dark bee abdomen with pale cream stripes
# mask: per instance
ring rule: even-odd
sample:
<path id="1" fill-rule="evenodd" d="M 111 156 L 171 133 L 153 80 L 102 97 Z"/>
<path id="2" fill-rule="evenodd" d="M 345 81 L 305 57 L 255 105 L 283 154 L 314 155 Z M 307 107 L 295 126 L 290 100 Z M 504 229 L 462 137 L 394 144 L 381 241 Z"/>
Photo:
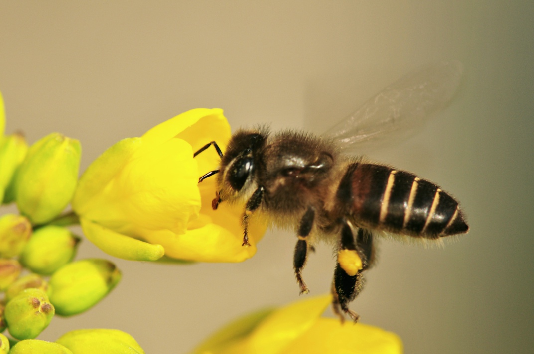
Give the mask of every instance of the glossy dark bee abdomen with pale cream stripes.
<path id="1" fill-rule="evenodd" d="M 469 229 L 458 202 L 434 183 L 390 167 L 349 165 L 337 190 L 360 226 L 425 238 Z"/>

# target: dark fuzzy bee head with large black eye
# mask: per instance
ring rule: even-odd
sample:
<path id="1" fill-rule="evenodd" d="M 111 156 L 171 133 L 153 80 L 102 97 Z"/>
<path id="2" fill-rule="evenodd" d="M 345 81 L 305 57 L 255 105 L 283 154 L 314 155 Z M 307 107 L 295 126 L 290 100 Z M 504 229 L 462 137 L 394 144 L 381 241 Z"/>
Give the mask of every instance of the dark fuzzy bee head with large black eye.
<path id="1" fill-rule="evenodd" d="M 221 160 L 222 172 L 217 178 L 217 196 L 213 208 L 223 200 L 237 200 L 252 191 L 257 170 L 257 152 L 263 148 L 265 134 L 256 130 L 238 131 L 232 135 Z"/>

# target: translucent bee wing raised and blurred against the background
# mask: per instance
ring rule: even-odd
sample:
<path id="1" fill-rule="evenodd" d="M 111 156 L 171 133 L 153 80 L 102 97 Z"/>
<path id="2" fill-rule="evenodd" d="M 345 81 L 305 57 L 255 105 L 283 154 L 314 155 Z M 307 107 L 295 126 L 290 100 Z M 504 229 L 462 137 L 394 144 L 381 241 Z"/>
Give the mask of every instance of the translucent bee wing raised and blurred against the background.
<path id="1" fill-rule="evenodd" d="M 337 141 L 345 152 L 375 147 L 385 139 L 407 138 L 452 100 L 462 71 L 459 61 L 434 63 L 414 71 L 387 86 L 323 136 Z"/>

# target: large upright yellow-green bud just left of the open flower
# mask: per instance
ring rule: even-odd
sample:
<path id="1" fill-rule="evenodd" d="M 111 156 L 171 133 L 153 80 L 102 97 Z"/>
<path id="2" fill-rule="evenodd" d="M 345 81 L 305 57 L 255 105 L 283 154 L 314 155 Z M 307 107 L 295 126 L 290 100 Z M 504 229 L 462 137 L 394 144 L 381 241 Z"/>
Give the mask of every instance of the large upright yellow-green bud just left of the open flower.
<path id="1" fill-rule="evenodd" d="M 52 133 L 34 143 L 17 172 L 15 196 L 32 223 L 55 218 L 72 199 L 80 167 L 80 142 Z"/>

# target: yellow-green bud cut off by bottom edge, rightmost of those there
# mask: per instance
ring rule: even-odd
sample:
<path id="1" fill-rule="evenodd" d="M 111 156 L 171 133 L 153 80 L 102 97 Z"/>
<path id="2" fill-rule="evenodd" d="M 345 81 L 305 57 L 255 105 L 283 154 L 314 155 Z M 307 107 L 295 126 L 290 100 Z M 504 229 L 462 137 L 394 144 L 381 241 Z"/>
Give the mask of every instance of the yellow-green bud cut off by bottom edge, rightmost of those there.
<path id="1" fill-rule="evenodd" d="M 144 354 L 139 343 L 118 329 L 76 329 L 62 335 L 56 342 L 76 354 Z"/>

